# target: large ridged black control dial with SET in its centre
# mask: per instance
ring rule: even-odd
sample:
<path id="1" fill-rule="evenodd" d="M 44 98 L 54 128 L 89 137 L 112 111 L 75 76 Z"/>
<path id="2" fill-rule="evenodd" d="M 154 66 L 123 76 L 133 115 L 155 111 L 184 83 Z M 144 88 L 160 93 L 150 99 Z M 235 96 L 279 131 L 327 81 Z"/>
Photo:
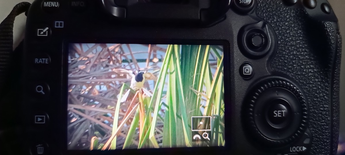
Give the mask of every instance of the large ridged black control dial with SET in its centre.
<path id="1" fill-rule="evenodd" d="M 260 145 L 280 147 L 302 136 L 307 126 L 306 101 L 296 85 L 268 79 L 249 91 L 243 104 L 243 125 Z"/>

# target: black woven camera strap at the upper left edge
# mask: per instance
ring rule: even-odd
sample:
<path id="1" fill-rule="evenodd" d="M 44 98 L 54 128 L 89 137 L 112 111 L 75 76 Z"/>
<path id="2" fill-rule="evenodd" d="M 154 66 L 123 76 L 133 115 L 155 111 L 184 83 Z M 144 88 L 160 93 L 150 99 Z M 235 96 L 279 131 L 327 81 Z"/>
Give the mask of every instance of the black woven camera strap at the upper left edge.
<path id="1" fill-rule="evenodd" d="M 13 53 L 13 24 L 16 16 L 27 12 L 30 7 L 29 2 L 17 4 L 11 13 L 0 24 L 0 89 L 3 89 L 5 81 L 9 78 L 9 67 Z"/>

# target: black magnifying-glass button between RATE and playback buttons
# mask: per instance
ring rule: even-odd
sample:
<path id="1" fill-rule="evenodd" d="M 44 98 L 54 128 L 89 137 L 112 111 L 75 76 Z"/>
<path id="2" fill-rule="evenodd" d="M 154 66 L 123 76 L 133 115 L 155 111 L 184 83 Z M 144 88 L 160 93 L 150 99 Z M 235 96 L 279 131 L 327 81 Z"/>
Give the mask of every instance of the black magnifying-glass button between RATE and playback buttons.
<path id="1" fill-rule="evenodd" d="M 36 99 L 46 99 L 49 96 L 50 88 L 45 82 L 36 82 L 31 86 L 32 95 Z"/>

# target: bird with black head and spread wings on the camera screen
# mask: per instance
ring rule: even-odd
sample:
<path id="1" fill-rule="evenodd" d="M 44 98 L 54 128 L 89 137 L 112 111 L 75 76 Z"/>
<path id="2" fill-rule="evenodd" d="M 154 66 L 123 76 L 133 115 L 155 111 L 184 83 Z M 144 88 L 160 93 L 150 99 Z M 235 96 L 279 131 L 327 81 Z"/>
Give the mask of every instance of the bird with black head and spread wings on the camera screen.
<path id="1" fill-rule="evenodd" d="M 148 96 L 151 95 L 151 93 L 143 88 L 144 83 L 146 80 L 157 80 L 157 77 L 149 72 L 143 72 L 143 71 L 132 71 L 132 70 L 126 70 L 126 69 L 117 69 L 121 73 L 127 74 L 131 78 L 131 83 L 130 83 L 130 88 L 132 88 L 135 91 L 142 90 L 144 91 Z M 129 95 L 130 90 L 127 90 L 125 95 L 121 98 L 121 102 L 125 102 L 128 95 Z"/>

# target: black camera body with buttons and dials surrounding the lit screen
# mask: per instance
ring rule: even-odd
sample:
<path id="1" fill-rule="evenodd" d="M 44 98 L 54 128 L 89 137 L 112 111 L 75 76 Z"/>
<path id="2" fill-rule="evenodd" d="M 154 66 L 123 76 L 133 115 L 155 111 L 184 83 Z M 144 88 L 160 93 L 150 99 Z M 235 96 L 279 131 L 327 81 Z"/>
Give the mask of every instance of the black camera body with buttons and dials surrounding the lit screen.
<path id="1" fill-rule="evenodd" d="M 44 6 L 45 2 L 51 3 Z M 24 145 L 28 152 L 36 142 L 43 141 L 51 154 L 57 155 L 336 153 L 341 35 L 337 18 L 326 0 L 169 3 L 138 0 L 32 3 L 27 14 L 22 76 L 23 121 L 27 124 Z M 44 30 L 45 27 L 49 29 Z M 38 29 L 47 36 L 38 36 Z M 73 41 L 223 45 L 226 145 L 68 151 L 66 46 Z M 36 58 L 47 63 L 35 64 Z M 37 84 L 50 90 L 48 97 L 32 94 Z M 269 118 L 265 114 L 270 107 L 280 109 L 273 108 L 276 116 L 290 111 L 291 117 Z M 37 115 L 49 117 L 49 124 L 33 124 Z"/>

